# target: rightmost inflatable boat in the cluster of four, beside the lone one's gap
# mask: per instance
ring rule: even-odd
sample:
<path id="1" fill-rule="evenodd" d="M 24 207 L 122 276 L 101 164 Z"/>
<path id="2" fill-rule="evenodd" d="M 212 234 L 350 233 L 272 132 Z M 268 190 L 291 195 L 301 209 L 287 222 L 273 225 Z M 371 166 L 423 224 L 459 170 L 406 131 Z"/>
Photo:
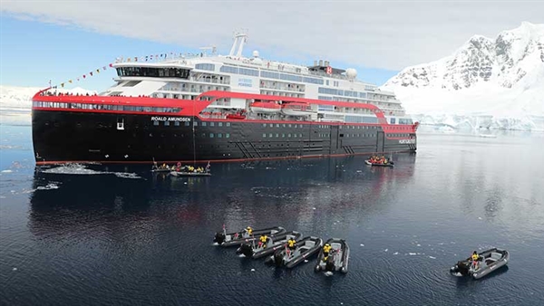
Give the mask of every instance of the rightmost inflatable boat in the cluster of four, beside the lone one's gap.
<path id="1" fill-rule="evenodd" d="M 331 251 L 325 259 L 325 254 L 323 253 L 323 248 L 319 252 L 318 262 L 316 272 L 325 270 L 327 272 L 340 271 L 342 273 L 347 273 L 347 263 L 349 261 L 349 245 L 345 242 L 344 239 L 331 238 L 326 241 L 325 244 L 331 245 Z"/>

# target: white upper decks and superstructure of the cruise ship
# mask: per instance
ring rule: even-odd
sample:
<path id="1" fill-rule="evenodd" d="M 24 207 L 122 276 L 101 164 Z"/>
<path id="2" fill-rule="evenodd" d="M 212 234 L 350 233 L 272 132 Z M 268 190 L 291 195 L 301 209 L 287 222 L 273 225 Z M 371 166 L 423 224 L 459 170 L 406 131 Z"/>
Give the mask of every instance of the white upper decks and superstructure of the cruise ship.
<path id="1" fill-rule="evenodd" d="M 411 124 L 401 102 L 393 92 L 380 91 L 377 86 L 356 79 L 353 68 L 330 66 L 328 61 L 315 61 L 313 66 L 262 59 L 257 51 L 251 58 L 242 56 L 247 33 L 236 33 L 228 55 L 219 55 L 215 47 L 201 48 L 199 54 L 180 54 L 157 62 L 118 61 L 116 84 L 104 95 L 151 96 L 157 98 L 194 100 L 205 91 L 234 91 L 279 97 L 334 100 L 374 104 L 384 111 L 391 124 Z M 211 53 L 208 51 L 211 50 Z M 138 59 L 136 59 L 138 60 Z M 251 101 L 221 99 L 209 105 L 210 113 L 250 110 Z M 312 120 L 341 120 L 374 123 L 370 110 L 347 106 L 314 105 Z"/>

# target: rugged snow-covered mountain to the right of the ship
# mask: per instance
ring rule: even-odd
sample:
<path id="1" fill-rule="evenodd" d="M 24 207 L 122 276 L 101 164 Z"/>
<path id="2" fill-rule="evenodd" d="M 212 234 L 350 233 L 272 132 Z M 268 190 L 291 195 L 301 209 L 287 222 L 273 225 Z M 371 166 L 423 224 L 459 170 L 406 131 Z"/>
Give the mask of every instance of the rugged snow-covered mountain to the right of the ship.
<path id="1" fill-rule="evenodd" d="M 382 88 L 422 119 L 485 118 L 500 129 L 544 130 L 544 24 L 524 22 L 494 40 L 475 35 L 452 55 L 408 67 Z"/>

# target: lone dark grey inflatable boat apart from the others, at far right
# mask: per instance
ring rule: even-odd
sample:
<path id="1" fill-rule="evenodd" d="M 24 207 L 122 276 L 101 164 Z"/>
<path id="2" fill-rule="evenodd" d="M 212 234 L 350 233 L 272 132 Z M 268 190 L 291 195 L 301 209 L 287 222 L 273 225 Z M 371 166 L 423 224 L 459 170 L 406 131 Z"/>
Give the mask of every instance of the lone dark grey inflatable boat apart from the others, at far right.
<path id="1" fill-rule="evenodd" d="M 471 275 L 473 279 L 477 280 L 497 271 L 510 260 L 510 253 L 508 251 L 497 248 L 483 251 L 479 255 L 480 260 L 476 269 L 472 266 L 472 259 L 469 257 L 464 261 L 457 262 L 457 264 L 450 268 L 450 272 L 462 276 Z"/>

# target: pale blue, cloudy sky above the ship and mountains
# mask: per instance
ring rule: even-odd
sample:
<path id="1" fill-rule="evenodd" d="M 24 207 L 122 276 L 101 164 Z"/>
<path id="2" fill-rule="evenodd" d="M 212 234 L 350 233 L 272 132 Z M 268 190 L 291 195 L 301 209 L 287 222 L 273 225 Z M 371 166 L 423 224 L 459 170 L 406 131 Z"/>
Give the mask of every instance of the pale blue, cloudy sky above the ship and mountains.
<path id="1" fill-rule="evenodd" d="M 384 84 L 403 68 L 450 55 L 474 34 L 494 38 L 521 22 L 544 24 L 539 1 L 2 0 L 0 84 L 102 91 L 117 57 L 228 53 L 247 29 L 245 55 L 311 65 L 329 60 Z"/>

